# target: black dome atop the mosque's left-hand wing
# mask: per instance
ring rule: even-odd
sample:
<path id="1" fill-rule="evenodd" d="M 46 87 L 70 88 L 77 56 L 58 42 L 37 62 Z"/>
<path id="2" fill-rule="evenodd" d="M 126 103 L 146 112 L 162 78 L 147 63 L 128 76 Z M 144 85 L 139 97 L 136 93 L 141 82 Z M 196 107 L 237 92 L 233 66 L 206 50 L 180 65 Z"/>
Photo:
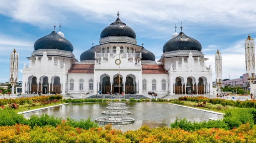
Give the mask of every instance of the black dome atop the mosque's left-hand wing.
<path id="1" fill-rule="evenodd" d="M 74 50 L 73 45 L 67 39 L 56 33 L 56 31 L 52 31 L 49 35 L 35 41 L 34 50 L 38 49 L 58 49 L 70 52 Z"/>

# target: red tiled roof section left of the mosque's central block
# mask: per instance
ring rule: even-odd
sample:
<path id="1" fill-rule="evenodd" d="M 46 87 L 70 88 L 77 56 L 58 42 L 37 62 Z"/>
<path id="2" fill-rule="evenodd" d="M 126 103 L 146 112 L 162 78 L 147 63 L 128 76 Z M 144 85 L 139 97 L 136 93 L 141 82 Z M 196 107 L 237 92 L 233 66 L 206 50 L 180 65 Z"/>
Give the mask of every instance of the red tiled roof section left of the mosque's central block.
<path id="1" fill-rule="evenodd" d="M 69 73 L 94 73 L 94 64 L 72 64 Z"/>

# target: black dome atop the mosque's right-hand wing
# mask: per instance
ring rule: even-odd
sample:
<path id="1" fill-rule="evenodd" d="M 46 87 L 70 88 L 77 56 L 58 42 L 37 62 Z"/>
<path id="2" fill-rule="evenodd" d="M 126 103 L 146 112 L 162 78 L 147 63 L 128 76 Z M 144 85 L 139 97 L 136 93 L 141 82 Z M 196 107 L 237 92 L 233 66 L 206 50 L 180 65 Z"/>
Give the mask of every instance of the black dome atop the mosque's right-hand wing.
<path id="1" fill-rule="evenodd" d="M 169 52 L 174 50 L 202 50 L 200 42 L 189 36 L 186 36 L 183 32 L 179 33 L 173 39 L 167 41 L 163 46 L 163 52 Z"/>

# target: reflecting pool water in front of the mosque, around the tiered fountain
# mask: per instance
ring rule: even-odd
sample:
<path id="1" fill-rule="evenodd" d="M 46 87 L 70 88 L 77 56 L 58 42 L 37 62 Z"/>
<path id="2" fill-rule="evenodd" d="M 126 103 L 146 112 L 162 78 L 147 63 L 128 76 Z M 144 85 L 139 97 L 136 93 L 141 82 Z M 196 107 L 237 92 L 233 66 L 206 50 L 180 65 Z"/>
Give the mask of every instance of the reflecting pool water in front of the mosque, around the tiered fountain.
<path id="1" fill-rule="evenodd" d="M 152 103 L 152 102 L 125 102 L 128 107 L 127 110 L 131 111 L 131 114 L 124 115 L 125 117 L 132 117 L 135 122 L 129 125 L 113 125 L 113 128 L 122 130 L 136 130 L 142 125 L 148 125 L 150 128 L 156 127 L 170 127 L 170 123 L 178 119 L 186 117 L 191 122 L 201 122 L 208 120 L 207 118 L 222 118 L 223 115 L 214 114 L 210 112 L 204 112 L 201 110 L 190 109 L 186 107 L 180 107 L 172 104 Z M 52 107 L 44 110 L 38 110 L 35 112 L 25 113 L 24 117 L 30 117 L 31 115 L 54 115 L 55 117 L 62 117 L 66 119 L 87 119 L 91 117 L 91 120 L 95 120 L 97 117 L 104 117 L 102 111 L 108 106 L 109 102 L 99 103 L 85 103 L 85 104 L 66 104 L 62 106 Z M 100 124 L 99 124 L 100 125 Z"/>

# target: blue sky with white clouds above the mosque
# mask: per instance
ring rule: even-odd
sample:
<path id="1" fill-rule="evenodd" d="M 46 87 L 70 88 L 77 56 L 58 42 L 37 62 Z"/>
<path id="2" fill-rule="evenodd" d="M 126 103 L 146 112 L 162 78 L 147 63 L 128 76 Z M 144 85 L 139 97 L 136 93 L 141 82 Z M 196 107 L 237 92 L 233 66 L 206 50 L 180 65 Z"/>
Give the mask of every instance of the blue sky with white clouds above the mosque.
<path id="1" fill-rule="evenodd" d="M 222 78 L 240 78 L 246 73 L 244 40 L 256 37 L 256 1 L 243 0 L 1 0 L 0 1 L 0 83 L 9 79 L 10 53 L 19 53 L 18 81 L 23 65 L 37 39 L 56 31 L 65 34 L 80 54 L 99 44 L 101 31 L 120 20 L 136 33 L 137 45 L 151 51 L 156 61 L 177 25 L 199 41 L 211 65 L 215 81 L 214 55 L 222 55 Z"/>

